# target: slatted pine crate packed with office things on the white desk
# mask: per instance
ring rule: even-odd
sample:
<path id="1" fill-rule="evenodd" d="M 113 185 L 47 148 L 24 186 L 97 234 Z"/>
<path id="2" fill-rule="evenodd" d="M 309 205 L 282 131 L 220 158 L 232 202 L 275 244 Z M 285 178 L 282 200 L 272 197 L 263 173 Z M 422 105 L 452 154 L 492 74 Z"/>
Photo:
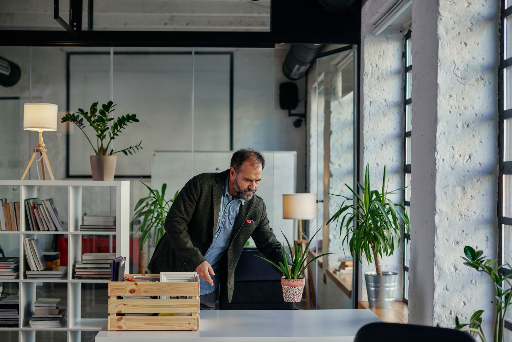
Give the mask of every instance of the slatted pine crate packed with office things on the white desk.
<path id="1" fill-rule="evenodd" d="M 125 277 L 160 274 L 125 274 Z M 199 330 L 199 277 L 195 281 L 109 281 L 108 330 Z M 118 296 L 190 296 L 183 299 L 118 299 Z M 190 312 L 191 316 L 119 316 Z"/>

